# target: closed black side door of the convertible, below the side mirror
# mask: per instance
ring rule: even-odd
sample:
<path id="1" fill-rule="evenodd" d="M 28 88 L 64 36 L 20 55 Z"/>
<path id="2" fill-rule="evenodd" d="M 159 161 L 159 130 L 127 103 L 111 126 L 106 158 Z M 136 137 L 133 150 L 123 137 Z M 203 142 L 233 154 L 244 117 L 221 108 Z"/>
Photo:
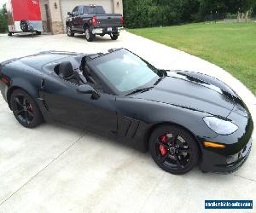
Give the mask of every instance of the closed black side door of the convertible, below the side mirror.
<path id="1" fill-rule="evenodd" d="M 79 94 L 79 85 L 56 78 L 44 80 L 44 101 L 55 120 L 80 128 L 116 132 L 117 115 L 114 95 L 100 92 L 91 99 L 90 94 Z"/>

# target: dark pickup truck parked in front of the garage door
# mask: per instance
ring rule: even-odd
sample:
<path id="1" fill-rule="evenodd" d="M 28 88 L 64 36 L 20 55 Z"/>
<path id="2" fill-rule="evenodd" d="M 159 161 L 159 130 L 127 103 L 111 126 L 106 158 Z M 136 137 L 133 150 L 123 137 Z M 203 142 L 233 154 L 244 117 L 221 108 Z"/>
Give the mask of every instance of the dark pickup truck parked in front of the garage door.
<path id="1" fill-rule="evenodd" d="M 106 14 L 102 6 L 80 5 L 67 15 L 67 36 L 84 33 L 88 42 L 92 42 L 96 35 L 103 37 L 106 34 L 116 40 L 119 37 L 119 28 L 123 26 L 122 14 Z"/>

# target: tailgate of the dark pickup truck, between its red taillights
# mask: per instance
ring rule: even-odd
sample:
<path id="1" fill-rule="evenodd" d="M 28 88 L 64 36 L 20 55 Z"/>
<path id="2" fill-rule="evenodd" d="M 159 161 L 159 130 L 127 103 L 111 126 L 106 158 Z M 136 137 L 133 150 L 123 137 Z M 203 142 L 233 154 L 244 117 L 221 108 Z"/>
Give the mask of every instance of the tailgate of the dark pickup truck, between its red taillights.
<path id="1" fill-rule="evenodd" d="M 96 27 L 121 27 L 121 14 L 96 14 Z"/>

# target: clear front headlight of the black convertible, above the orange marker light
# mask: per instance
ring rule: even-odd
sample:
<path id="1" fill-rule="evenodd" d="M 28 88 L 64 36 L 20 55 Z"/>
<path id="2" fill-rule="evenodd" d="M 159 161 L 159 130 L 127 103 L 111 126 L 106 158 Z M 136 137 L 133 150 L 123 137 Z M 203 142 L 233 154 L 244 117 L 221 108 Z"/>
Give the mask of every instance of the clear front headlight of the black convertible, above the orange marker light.
<path id="1" fill-rule="evenodd" d="M 205 117 L 203 120 L 211 130 L 215 131 L 219 135 L 230 135 L 238 129 L 236 124 L 220 118 Z"/>

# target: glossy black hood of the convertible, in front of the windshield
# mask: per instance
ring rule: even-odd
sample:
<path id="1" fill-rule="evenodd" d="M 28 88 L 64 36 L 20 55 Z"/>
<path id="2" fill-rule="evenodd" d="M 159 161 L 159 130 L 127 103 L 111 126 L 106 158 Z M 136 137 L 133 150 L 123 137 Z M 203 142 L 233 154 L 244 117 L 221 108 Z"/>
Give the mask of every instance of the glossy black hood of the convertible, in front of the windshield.
<path id="1" fill-rule="evenodd" d="M 226 118 L 236 93 L 216 78 L 195 72 L 169 72 L 153 89 L 134 98 L 157 101 Z"/>

